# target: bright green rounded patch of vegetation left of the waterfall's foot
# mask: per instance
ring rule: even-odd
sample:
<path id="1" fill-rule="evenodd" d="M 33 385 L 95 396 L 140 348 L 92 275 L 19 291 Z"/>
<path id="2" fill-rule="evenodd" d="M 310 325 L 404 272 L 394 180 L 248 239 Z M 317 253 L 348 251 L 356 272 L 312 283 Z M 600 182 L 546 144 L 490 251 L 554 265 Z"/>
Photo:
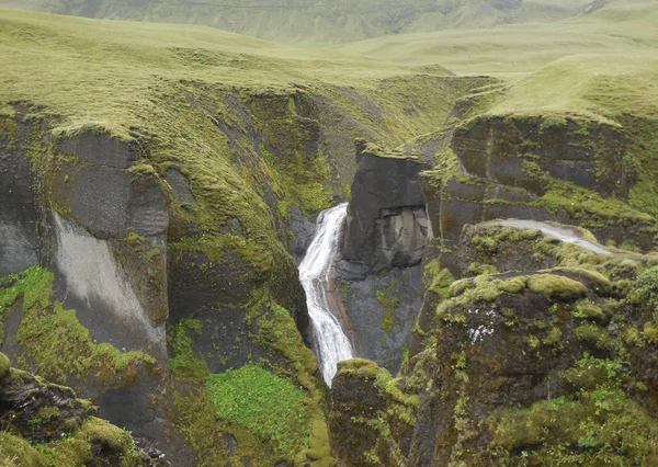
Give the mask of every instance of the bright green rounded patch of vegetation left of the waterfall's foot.
<path id="1" fill-rule="evenodd" d="M 310 420 L 305 392 L 257 365 L 209 375 L 208 399 L 217 417 L 273 441 L 276 458 L 307 446 Z"/>

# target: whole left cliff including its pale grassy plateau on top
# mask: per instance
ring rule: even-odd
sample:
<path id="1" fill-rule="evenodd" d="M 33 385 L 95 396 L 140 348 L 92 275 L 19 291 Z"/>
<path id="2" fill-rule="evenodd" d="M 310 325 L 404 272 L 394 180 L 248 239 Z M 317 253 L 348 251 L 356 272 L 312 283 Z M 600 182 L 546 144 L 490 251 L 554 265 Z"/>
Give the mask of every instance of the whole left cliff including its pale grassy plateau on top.
<path id="1" fill-rule="evenodd" d="M 219 32 L 173 46 L 159 26 L 0 14 L 16 60 L 0 99 L 2 351 L 173 465 L 332 465 L 295 260 L 349 195 L 354 136 L 424 133 L 483 79 L 337 84 L 315 58 L 300 73 L 305 59 Z M 42 57 L 29 81 L 25 54 Z"/>

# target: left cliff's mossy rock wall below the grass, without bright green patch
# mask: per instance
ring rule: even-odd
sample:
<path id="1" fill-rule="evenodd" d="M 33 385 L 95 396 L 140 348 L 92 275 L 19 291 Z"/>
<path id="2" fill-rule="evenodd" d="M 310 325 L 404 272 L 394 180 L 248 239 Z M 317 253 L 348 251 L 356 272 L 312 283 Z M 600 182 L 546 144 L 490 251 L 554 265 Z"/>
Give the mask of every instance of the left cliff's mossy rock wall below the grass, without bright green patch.
<path id="1" fill-rule="evenodd" d="M 306 458 L 313 430 L 314 460 L 327 462 L 306 300 L 286 247 L 303 254 L 307 216 L 330 201 L 318 156 L 333 143 L 305 96 L 196 93 L 180 116 L 198 117 L 190 128 L 204 126 L 203 137 L 188 128 L 180 140 L 204 143 L 185 157 L 159 146 L 180 126 L 59 133 L 21 105 L 0 117 L 2 351 L 175 465 L 274 465 L 291 449 Z M 217 420 L 207 377 L 250 363 L 303 387 L 317 410 L 288 451 L 258 426 Z"/>

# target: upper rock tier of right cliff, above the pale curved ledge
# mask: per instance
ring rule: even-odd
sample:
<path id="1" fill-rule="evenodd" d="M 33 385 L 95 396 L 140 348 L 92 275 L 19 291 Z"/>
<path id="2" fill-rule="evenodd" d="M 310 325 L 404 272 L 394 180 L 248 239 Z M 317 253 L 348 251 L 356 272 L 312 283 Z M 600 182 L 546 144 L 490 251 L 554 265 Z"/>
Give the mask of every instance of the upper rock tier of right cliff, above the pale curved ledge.
<path id="1" fill-rule="evenodd" d="M 441 156 L 458 167 L 455 176 L 421 174 L 432 231 L 447 247 L 466 224 L 554 220 L 588 228 L 601 242 L 633 241 L 649 250 L 655 219 L 623 203 L 637 181 L 626 152 L 625 133 L 600 122 L 470 118 L 454 129 Z"/>

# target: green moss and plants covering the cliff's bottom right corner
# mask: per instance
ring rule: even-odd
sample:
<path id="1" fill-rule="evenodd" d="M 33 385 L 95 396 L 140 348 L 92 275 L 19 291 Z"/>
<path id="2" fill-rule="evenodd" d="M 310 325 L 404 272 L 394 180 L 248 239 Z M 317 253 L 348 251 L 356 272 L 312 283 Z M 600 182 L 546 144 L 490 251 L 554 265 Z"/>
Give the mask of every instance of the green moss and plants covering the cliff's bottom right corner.
<path id="1" fill-rule="evenodd" d="M 586 355 L 563 376 L 579 389 L 572 395 L 500 410 L 489 420 L 498 455 L 547 466 L 653 465 L 658 422 L 624 392 L 622 374 L 619 362 Z"/>

